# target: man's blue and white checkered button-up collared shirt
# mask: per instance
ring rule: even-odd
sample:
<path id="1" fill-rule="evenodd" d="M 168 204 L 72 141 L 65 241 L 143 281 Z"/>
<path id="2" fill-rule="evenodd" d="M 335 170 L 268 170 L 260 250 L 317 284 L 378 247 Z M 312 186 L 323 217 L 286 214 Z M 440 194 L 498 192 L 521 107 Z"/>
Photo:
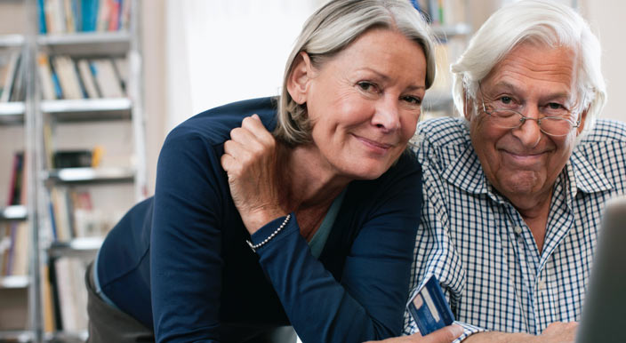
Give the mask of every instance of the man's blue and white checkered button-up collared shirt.
<path id="1" fill-rule="evenodd" d="M 436 275 L 461 339 L 478 331 L 540 334 L 580 320 L 606 200 L 626 194 L 626 124 L 598 120 L 554 185 L 543 250 L 487 181 L 462 118 L 418 126 L 424 201 L 411 295 Z M 417 332 L 405 314 L 405 334 Z M 459 339 L 460 340 L 460 339 Z"/>

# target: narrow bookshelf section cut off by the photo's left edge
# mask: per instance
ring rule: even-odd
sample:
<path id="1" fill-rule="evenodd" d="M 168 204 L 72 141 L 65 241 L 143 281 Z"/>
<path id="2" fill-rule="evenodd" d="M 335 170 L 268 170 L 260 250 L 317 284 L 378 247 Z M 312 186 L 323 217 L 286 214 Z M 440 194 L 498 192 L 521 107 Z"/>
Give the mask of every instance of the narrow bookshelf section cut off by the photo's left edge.
<path id="1" fill-rule="evenodd" d="M 19 25 L 6 25 L 6 12 L 21 1 L 0 1 L 0 341 L 32 341 L 29 306 L 36 297 L 30 259 L 32 203 L 26 167 L 32 156 L 28 144 L 28 35 Z M 15 15 L 26 21 L 26 12 Z M 20 156 L 18 158 L 18 156 Z"/>

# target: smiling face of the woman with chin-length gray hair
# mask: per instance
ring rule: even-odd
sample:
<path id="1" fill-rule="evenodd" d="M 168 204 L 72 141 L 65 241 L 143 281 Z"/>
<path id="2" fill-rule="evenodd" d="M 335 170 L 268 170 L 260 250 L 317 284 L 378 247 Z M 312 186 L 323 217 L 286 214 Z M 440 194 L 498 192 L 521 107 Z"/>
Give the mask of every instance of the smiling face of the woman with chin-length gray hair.
<path id="1" fill-rule="evenodd" d="M 421 46 L 395 31 L 372 29 L 321 68 L 309 67 L 309 76 L 301 100 L 320 166 L 349 179 L 381 176 L 405 150 L 421 113 Z"/>

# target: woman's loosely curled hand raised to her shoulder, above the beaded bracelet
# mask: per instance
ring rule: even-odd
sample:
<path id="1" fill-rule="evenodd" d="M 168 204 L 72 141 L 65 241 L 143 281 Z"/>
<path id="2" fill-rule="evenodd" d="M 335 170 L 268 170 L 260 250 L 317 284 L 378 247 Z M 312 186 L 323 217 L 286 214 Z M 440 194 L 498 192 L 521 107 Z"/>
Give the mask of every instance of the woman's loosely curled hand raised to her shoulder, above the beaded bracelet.
<path id="1" fill-rule="evenodd" d="M 277 142 L 257 115 L 245 117 L 224 143 L 221 166 L 228 173 L 230 194 L 252 235 L 286 213 L 277 192 Z"/>

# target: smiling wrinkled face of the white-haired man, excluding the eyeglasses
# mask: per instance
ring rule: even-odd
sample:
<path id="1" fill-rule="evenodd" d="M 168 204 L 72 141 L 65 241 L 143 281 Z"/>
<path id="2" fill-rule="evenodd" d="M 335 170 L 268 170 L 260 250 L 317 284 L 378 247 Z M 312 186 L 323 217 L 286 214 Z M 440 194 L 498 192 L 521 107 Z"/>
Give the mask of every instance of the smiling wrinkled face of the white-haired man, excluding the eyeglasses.
<path id="1" fill-rule="evenodd" d="M 530 210 L 533 199 L 550 198 L 559 172 L 572 155 L 586 113 L 578 129 L 555 137 L 541 132 L 534 120 L 526 120 L 515 129 L 498 127 L 482 111 L 481 101 L 491 108 L 516 108 L 530 118 L 541 118 L 558 106 L 573 110 L 575 61 L 569 48 L 519 44 L 481 82 L 478 116 L 465 114 L 487 179 L 520 210 Z M 574 120 L 577 114 L 574 110 Z"/>

